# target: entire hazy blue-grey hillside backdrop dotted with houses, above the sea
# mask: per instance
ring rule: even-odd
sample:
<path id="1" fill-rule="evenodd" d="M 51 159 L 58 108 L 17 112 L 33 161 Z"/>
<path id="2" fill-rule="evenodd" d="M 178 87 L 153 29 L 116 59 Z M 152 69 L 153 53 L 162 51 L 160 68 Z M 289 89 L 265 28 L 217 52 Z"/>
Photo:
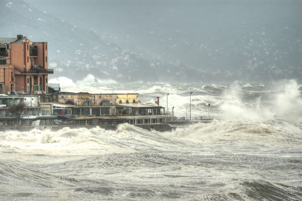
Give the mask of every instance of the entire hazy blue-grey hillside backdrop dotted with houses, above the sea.
<path id="1" fill-rule="evenodd" d="M 48 42 L 56 77 L 93 74 L 122 82 L 302 77 L 300 1 L 0 4 L 1 37 L 23 34 Z"/>

